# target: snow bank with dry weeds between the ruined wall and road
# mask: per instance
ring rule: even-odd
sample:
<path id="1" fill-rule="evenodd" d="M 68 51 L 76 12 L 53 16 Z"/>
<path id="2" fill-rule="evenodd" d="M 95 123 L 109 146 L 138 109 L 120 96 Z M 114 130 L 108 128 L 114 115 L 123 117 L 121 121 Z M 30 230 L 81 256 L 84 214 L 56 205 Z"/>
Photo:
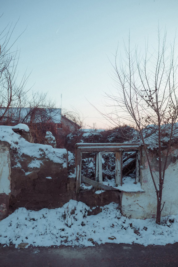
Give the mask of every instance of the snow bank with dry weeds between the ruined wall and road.
<path id="1" fill-rule="evenodd" d="M 155 219 L 129 219 L 121 215 L 116 203 L 102 208 L 97 215 L 87 215 L 90 208 L 70 200 L 62 208 L 39 211 L 19 208 L 0 222 L 0 243 L 28 243 L 32 246 L 94 246 L 125 243 L 144 246 L 178 242 L 178 220 L 171 216 L 165 225 Z M 165 218 L 164 218 L 165 220 Z"/>

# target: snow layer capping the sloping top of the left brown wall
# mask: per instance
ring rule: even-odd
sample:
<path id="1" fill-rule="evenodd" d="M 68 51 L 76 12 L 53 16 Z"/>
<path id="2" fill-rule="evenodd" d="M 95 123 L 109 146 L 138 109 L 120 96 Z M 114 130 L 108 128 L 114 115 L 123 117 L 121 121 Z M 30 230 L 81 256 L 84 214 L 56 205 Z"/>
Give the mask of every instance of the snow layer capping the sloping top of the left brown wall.
<path id="1" fill-rule="evenodd" d="M 67 167 L 67 159 L 65 159 L 65 155 L 67 154 L 66 149 L 53 148 L 49 145 L 29 143 L 19 134 L 16 134 L 13 131 L 13 128 L 14 126 L 0 126 L 0 141 L 8 142 L 11 149 L 15 149 L 21 158 L 23 158 L 23 154 L 32 158 L 45 157 L 46 159 L 49 159 L 55 163 L 63 164 L 63 168 Z M 23 126 L 23 128 L 25 127 Z"/>

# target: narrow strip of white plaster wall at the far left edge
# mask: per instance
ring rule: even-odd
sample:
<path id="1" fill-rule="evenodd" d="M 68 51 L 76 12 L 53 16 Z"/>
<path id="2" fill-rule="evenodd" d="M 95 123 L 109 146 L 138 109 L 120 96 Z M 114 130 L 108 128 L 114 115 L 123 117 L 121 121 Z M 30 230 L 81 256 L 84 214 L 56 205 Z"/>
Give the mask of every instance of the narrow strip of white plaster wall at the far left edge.
<path id="1" fill-rule="evenodd" d="M 9 213 L 9 200 L 11 196 L 11 160 L 9 145 L 0 142 L 0 220 Z"/>

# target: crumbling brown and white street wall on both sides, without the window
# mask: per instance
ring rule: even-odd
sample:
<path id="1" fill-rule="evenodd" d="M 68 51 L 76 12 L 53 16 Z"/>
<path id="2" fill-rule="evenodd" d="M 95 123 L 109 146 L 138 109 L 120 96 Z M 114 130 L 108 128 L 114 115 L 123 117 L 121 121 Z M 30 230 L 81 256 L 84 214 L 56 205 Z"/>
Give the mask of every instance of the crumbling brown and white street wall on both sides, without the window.
<path id="1" fill-rule="evenodd" d="M 23 128 L 23 125 L 19 127 Z M 49 145 L 27 142 L 15 133 L 11 126 L 1 126 L 0 131 L 0 220 L 18 207 L 39 210 L 57 208 L 70 199 L 82 201 L 93 212 L 110 202 L 118 203 L 118 209 L 132 218 L 155 218 L 157 199 L 153 181 L 144 151 L 140 163 L 140 184 L 144 192 L 105 191 L 95 194 L 95 190 L 75 194 L 74 158 L 70 159 L 66 149 L 55 149 Z M 16 127 L 19 129 L 18 127 Z M 28 130 L 28 129 L 27 129 Z M 28 138 L 26 138 L 28 139 Z M 71 158 L 69 152 L 69 157 Z M 178 213 L 178 149 L 172 147 L 168 156 L 164 180 L 162 215 Z M 150 162 L 157 185 L 158 160 L 155 153 L 149 153 Z M 165 152 L 162 163 L 164 164 Z M 69 172 L 69 173 L 68 173 Z"/>

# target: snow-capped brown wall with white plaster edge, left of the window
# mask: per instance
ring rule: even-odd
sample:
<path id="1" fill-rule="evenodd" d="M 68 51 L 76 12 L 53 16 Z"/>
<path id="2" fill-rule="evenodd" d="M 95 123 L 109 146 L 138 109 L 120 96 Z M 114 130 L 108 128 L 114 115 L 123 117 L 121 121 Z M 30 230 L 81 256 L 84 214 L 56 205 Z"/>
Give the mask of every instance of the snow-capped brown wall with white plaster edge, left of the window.
<path id="1" fill-rule="evenodd" d="M 28 135 L 27 125 L 0 126 L 0 215 L 9 206 L 57 208 L 74 193 L 67 191 L 67 150 L 30 143 L 22 133 Z"/>

